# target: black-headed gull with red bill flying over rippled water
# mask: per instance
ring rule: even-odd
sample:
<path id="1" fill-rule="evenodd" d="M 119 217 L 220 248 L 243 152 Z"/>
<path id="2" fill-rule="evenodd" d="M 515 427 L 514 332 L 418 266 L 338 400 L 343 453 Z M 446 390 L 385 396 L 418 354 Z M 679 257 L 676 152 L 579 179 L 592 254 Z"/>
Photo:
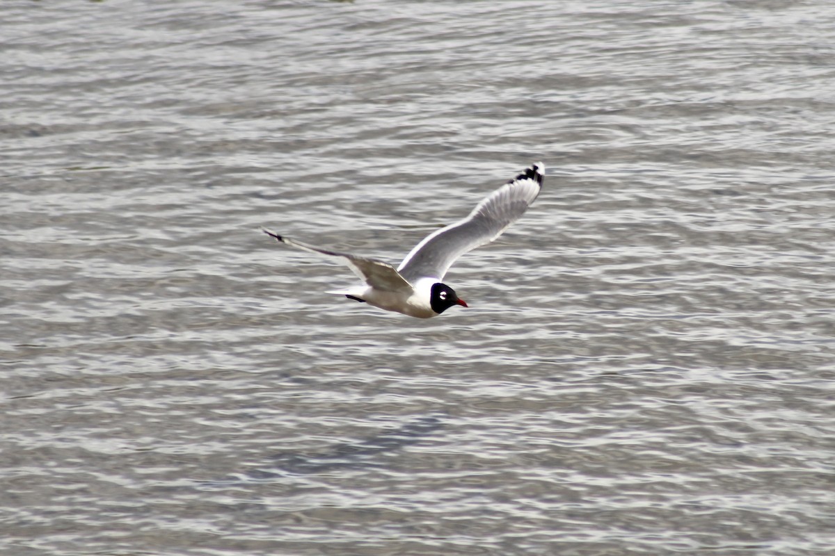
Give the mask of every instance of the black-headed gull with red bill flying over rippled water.
<path id="1" fill-rule="evenodd" d="M 410 317 L 437 317 L 453 305 L 467 307 L 443 277 L 455 259 L 498 238 L 527 210 L 542 189 L 545 167 L 535 163 L 490 193 L 467 218 L 430 233 L 394 268 L 376 258 L 314 247 L 262 228 L 267 235 L 294 248 L 337 258 L 362 279 L 353 288 L 331 291 Z"/>

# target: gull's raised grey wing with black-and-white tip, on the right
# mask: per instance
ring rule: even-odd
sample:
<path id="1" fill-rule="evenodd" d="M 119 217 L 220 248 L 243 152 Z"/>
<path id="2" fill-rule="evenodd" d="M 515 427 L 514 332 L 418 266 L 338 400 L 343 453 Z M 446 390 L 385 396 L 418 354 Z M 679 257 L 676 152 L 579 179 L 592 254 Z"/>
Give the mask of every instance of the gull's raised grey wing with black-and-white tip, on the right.
<path id="1" fill-rule="evenodd" d="M 488 195 L 467 218 L 429 234 L 397 267 L 403 278 L 443 280 L 455 259 L 498 238 L 534 202 L 542 188 L 543 163 L 535 163 Z"/>

